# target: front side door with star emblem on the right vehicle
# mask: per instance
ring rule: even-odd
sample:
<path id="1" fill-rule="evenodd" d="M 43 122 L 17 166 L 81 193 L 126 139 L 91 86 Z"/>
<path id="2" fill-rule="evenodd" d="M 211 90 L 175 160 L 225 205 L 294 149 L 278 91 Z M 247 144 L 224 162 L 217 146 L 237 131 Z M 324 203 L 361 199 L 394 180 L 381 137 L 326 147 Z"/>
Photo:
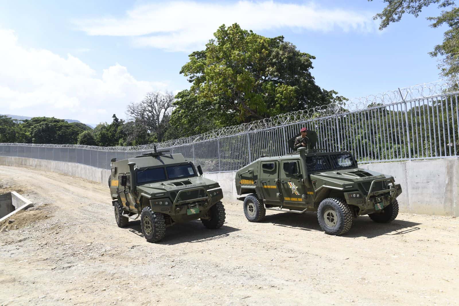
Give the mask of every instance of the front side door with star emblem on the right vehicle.
<path id="1" fill-rule="evenodd" d="M 284 205 L 304 206 L 305 188 L 300 171 L 300 160 L 282 161 L 280 188 Z"/>

